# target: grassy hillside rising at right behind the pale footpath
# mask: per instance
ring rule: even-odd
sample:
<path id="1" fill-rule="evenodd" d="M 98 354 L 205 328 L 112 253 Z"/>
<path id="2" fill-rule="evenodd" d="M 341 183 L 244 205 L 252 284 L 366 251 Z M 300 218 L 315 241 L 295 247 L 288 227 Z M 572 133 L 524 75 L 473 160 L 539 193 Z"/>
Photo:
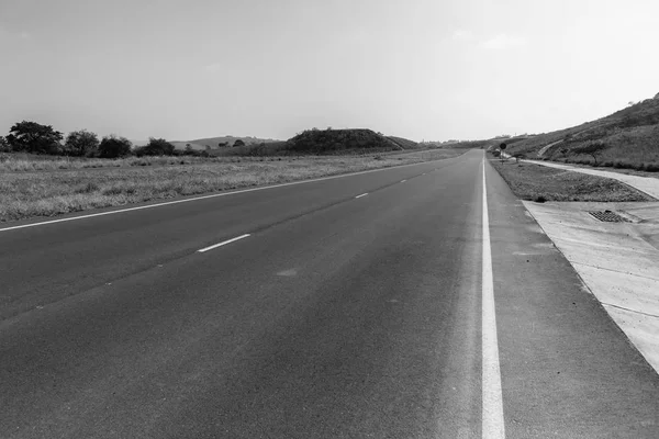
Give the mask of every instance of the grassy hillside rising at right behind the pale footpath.
<path id="1" fill-rule="evenodd" d="M 595 157 L 583 150 L 600 147 Z M 659 170 L 659 95 L 606 117 L 509 143 L 509 153 L 582 165 Z"/>

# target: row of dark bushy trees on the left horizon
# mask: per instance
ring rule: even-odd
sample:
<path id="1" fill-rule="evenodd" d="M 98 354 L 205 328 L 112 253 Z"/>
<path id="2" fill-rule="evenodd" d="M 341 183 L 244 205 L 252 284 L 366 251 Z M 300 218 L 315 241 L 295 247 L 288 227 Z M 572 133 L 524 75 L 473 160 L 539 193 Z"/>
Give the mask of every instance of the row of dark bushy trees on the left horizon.
<path id="1" fill-rule="evenodd" d="M 87 130 L 70 132 L 66 137 L 52 125 L 23 121 L 15 123 L 9 134 L 0 136 L 0 153 L 31 153 L 67 157 L 120 158 L 126 156 L 179 156 L 203 155 L 190 150 L 177 150 L 164 138 L 149 137 L 148 144 L 134 147 L 125 137 L 115 135 L 99 139 Z"/>

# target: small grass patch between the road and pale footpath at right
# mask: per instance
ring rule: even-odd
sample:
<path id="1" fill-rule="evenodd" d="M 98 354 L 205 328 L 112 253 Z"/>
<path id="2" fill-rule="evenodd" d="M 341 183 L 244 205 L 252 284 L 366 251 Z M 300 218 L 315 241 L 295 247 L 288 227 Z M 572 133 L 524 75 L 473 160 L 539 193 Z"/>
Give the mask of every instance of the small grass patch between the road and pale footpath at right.
<path id="1" fill-rule="evenodd" d="M 522 200 L 532 201 L 654 201 L 618 181 L 535 164 L 492 160 L 491 164 Z"/>

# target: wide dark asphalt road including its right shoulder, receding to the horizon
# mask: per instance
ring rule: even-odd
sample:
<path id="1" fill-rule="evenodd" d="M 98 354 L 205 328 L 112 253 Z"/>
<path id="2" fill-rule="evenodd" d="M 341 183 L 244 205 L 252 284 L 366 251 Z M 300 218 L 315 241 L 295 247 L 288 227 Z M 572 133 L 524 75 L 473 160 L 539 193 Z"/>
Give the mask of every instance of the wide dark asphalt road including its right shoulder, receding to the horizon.
<path id="1" fill-rule="evenodd" d="M 509 438 L 659 437 L 659 376 L 487 162 L 482 380 L 482 166 L 0 230 L 0 437 L 492 437 L 485 393 Z"/>

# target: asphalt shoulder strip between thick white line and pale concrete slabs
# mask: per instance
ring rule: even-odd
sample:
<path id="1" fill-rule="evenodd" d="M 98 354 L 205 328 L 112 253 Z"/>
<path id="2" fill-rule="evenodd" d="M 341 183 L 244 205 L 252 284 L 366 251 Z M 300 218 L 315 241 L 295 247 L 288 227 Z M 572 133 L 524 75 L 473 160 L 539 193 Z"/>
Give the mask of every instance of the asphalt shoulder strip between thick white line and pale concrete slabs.
<path id="1" fill-rule="evenodd" d="M 506 435 L 658 437 L 659 375 L 487 168 Z"/>

